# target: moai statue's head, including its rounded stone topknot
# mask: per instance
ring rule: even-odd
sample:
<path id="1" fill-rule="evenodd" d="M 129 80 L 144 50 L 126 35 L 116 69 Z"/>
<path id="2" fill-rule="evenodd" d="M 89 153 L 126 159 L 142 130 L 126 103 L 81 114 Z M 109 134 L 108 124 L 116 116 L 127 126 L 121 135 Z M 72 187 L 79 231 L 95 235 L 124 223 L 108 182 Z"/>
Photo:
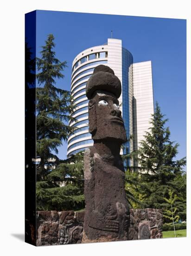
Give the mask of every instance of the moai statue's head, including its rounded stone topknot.
<path id="1" fill-rule="evenodd" d="M 94 141 L 127 141 L 118 98 L 121 82 L 114 71 L 104 65 L 95 68 L 86 85 L 89 99 L 89 132 Z"/>

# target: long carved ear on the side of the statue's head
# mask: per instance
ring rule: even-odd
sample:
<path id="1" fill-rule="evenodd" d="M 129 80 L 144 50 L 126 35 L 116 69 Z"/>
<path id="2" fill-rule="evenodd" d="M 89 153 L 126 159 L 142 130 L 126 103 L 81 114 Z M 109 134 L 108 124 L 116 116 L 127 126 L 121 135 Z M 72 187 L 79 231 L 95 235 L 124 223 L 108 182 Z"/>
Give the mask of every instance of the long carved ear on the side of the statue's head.
<path id="1" fill-rule="evenodd" d="M 88 113 L 89 113 L 89 133 L 94 136 L 97 130 L 96 123 L 96 101 L 90 100 L 88 105 Z"/>

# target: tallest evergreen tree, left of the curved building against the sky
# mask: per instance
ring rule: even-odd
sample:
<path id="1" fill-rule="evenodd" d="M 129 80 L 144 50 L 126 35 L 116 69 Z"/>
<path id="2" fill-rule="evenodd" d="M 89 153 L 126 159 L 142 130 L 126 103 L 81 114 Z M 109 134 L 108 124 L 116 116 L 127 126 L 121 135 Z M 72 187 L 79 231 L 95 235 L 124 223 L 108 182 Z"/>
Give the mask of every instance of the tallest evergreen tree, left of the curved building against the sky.
<path id="1" fill-rule="evenodd" d="M 37 58 L 37 67 L 41 71 L 37 74 L 37 80 L 39 85 L 44 85 L 36 91 L 37 157 L 40 157 L 37 180 L 45 178 L 51 168 L 51 159 L 58 161 L 54 153 L 58 153 L 57 147 L 62 145 L 63 140 L 67 141 L 68 134 L 72 131 L 66 124 L 71 120 L 70 92 L 55 87 L 55 79 L 64 77 L 61 71 L 66 67 L 66 61 L 61 62 L 55 58 L 52 34 L 48 35 L 45 43 L 40 52 L 42 58 Z"/>

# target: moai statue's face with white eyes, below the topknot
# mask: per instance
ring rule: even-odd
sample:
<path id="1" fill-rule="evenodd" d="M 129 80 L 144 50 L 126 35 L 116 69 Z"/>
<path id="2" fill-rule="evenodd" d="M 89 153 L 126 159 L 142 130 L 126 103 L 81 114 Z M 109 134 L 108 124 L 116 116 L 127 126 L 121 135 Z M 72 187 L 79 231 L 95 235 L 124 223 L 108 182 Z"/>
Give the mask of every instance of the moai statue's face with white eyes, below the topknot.
<path id="1" fill-rule="evenodd" d="M 93 140 L 127 141 L 119 101 L 112 93 L 97 90 L 89 101 L 89 132 Z"/>

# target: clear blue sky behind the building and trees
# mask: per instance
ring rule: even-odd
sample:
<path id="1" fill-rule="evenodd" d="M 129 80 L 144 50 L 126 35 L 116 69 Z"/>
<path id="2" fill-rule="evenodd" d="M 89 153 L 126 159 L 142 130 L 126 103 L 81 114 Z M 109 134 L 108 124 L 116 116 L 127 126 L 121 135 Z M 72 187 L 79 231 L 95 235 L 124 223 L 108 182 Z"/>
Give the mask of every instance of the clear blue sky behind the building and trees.
<path id="1" fill-rule="evenodd" d="M 134 62 L 152 61 L 154 102 L 169 121 L 171 141 L 179 143 L 177 159 L 186 155 L 186 20 L 135 16 L 37 11 L 37 56 L 48 34 L 55 37 L 56 57 L 67 61 L 57 87 L 70 90 L 71 65 L 84 49 L 102 45 L 111 37 Z M 66 158 L 67 144 L 58 156 Z"/>

